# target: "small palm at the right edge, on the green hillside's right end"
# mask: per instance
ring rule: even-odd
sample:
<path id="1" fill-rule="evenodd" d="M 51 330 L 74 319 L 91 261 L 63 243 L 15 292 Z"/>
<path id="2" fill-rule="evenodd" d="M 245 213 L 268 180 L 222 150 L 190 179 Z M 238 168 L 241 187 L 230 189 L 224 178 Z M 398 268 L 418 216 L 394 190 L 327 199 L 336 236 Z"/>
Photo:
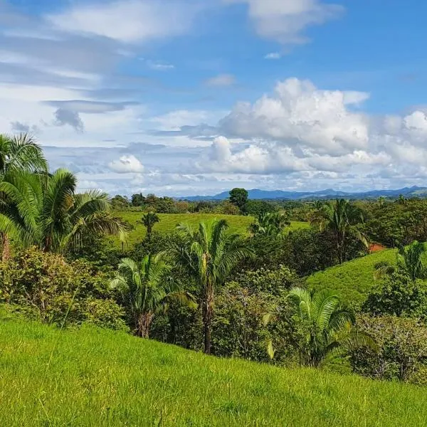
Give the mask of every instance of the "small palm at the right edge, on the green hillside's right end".
<path id="1" fill-rule="evenodd" d="M 375 277 L 381 278 L 396 271 L 404 270 L 411 280 L 427 278 L 427 269 L 423 265 L 423 256 L 426 253 L 426 244 L 413 241 L 408 246 L 400 246 L 396 253 L 396 266 L 386 261 L 375 265 Z"/>

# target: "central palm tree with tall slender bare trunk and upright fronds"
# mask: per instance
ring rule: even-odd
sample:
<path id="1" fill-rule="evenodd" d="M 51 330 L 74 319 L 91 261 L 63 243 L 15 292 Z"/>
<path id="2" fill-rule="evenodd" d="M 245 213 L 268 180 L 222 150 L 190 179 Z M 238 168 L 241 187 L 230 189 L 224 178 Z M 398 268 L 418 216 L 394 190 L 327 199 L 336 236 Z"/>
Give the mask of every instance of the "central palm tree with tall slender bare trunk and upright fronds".
<path id="1" fill-rule="evenodd" d="M 170 255 L 196 280 L 201 293 L 204 323 L 204 352 L 211 353 L 211 323 L 214 315 L 216 289 L 223 285 L 231 270 L 246 257 L 253 255 L 241 236 L 227 233 L 225 220 L 201 222 L 194 229 L 189 224 L 177 227 L 182 242 L 172 243 Z"/>

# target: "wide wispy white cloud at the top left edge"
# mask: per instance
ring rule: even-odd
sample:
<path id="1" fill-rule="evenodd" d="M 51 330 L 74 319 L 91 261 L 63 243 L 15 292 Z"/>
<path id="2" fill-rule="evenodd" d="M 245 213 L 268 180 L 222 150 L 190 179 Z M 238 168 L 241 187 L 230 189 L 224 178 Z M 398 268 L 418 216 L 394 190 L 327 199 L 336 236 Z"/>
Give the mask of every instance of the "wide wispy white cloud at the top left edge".
<path id="1" fill-rule="evenodd" d="M 136 43 L 185 33 L 194 12 L 184 1 L 98 1 L 72 5 L 47 19 L 62 31 Z"/>

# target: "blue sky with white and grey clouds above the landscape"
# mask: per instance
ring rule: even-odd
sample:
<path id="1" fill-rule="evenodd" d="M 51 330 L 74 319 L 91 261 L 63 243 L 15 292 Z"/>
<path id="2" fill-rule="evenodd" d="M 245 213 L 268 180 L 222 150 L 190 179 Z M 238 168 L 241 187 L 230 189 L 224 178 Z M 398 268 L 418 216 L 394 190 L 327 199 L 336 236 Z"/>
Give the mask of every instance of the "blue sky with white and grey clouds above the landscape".
<path id="1" fill-rule="evenodd" d="M 110 195 L 427 186 L 419 0 L 0 0 L 0 132 Z"/>

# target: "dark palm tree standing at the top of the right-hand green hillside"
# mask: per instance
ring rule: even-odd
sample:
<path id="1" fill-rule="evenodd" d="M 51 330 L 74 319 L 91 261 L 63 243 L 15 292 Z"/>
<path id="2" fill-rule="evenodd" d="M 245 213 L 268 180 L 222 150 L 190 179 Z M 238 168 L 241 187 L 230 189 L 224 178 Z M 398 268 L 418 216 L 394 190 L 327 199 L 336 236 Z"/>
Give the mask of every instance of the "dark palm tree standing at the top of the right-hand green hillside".
<path id="1" fill-rule="evenodd" d="M 354 236 L 364 246 L 369 247 L 367 238 L 357 228 L 357 225 L 363 221 L 361 209 L 344 199 L 337 199 L 334 204 L 323 204 L 315 218 L 312 219 L 312 223 L 317 223 L 320 230 L 327 229 L 334 236 L 340 264 L 344 262 L 347 236 Z"/>

